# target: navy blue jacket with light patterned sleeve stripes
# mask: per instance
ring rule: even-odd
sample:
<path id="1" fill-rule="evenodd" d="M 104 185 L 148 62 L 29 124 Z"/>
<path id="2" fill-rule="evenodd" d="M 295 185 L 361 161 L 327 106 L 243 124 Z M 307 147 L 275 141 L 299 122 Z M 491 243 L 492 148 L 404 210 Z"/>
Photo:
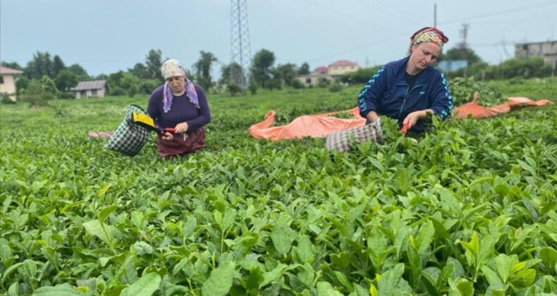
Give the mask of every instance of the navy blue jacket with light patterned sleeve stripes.
<path id="1" fill-rule="evenodd" d="M 405 80 L 408 56 L 381 67 L 367 82 L 357 98 L 360 115 L 370 111 L 398 120 L 402 127 L 404 118 L 414 111 L 431 109 L 442 119 L 451 115 L 453 97 L 448 90 L 445 75 L 434 67 L 427 67 L 409 90 Z M 412 131 L 424 130 L 423 120 L 417 122 Z"/>

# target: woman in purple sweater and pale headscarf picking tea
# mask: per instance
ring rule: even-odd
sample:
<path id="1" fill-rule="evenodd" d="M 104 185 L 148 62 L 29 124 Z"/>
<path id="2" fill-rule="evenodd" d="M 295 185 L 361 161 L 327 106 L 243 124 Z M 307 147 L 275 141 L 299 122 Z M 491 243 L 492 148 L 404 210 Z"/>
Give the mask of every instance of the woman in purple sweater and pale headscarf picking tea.
<path id="1" fill-rule="evenodd" d="M 185 77 L 184 66 L 179 61 L 165 61 L 161 73 L 166 83 L 151 94 L 147 113 L 159 128 L 176 130 L 158 136 L 159 155 L 170 158 L 202 149 L 205 147 L 203 126 L 211 121 L 203 89 Z"/>

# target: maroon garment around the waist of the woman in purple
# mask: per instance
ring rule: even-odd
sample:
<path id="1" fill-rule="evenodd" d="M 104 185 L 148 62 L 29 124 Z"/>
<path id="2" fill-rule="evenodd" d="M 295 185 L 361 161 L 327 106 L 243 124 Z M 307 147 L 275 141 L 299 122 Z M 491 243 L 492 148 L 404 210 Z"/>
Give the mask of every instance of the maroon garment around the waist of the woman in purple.
<path id="1" fill-rule="evenodd" d="M 205 147 L 205 130 L 198 128 L 197 130 L 190 130 L 185 133 L 187 137 L 180 134 L 174 134 L 173 140 L 162 140 L 162 137 L 157 138 L 159 156 L 162 158 L 169 158 L 182 154 L 195 152 L 196 150 Z"/>

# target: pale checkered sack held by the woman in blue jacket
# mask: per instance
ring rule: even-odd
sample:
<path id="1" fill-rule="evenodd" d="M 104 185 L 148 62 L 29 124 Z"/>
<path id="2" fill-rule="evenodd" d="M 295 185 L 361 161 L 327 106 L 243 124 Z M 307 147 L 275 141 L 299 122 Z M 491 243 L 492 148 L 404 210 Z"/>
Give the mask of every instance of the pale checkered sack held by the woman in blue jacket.
<path id="1" fill-rule="evenodd" d="M 353 142 L 360 143 L 367 140 L 384 144 L 381 121 L 378 120 L 357 128 L 348 128 L 348 130 L 331 132 L 326 137 L 325 147 L 329 151 L 336 149 L 340 152 L 348 152 L 352 150 L 351 144 Z"/>

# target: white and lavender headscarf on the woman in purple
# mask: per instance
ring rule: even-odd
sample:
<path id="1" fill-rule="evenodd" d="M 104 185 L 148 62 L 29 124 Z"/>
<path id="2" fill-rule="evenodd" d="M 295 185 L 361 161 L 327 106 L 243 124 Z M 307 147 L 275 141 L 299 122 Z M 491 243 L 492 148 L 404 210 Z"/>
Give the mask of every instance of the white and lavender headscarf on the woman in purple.
<path id="1" fill-rule="evenodd" d="M 184 78 L 184 88 L 186 95 L 190 99 L 190 102 L 194 104 L 195 108 L 200 109 L 200 101 L 197 97 L 197 91 L 193 86 L 193 83 L 185 76 L 185 68 L 179 61 L 176 60 L 168 60 L 165 61 L 161 66 L 161 74 L 164 79 L 174 76 L 183 76 Z M 170 89 L 169 82 L 164 83 L 163 92 L 162 92 L 162 103 L 163 103 L 163 110 L 164 113 L 170 111 L 170 107 L 172 105 L 172 90 Z"/>

